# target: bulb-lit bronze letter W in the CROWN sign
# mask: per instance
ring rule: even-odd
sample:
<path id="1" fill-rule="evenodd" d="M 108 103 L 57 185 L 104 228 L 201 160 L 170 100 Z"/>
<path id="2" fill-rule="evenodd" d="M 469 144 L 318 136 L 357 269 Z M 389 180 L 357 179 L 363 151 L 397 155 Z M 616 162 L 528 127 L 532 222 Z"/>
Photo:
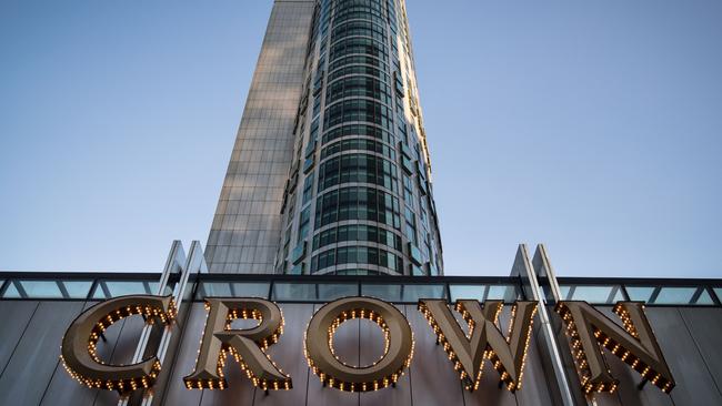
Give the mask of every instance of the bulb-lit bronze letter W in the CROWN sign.
<path id="1" fill-rule="evenodd" d="M 437 334 L 438 343 L 442 344 L 449 354 L 449 359 L 459 372 L 467 390 L 479 388 L 481 364 L 484 358 L 492 362 L 509 390 L 521 389 L 537 303 L 514 304 L 509 325 L 509 338 L 504 338 L 497 326 L 499 314 L 503 308 L 502 302 L 484 302 L 482 309 L 478 301 L 462 300 L 457 301 L 455 308 L 469 325 L 469 335 L 461 329 L 447 301 L 419 301 L 419 311 L 429 321 Z"/>

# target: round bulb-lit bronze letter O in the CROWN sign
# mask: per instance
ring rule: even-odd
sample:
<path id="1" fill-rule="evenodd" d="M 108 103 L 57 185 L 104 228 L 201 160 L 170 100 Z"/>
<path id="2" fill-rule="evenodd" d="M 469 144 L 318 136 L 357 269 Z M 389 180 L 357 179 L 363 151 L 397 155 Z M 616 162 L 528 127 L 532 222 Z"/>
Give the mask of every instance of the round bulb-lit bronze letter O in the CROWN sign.
<path id="1" fill-rule="evenodd" d="M 341 323 L 368 318 L 383 331 L 385 351 L 367 367 L 349 366 L 333 353 L 333 334 Z M 341 390 L 367 392 L 395 385 L 413 356 L 413 333 L 407 318 L 393 305 L 370 297 L 347 297 L 321 307 L 309 322 L 304 353 L 311 371 L 324 385 Z"/>

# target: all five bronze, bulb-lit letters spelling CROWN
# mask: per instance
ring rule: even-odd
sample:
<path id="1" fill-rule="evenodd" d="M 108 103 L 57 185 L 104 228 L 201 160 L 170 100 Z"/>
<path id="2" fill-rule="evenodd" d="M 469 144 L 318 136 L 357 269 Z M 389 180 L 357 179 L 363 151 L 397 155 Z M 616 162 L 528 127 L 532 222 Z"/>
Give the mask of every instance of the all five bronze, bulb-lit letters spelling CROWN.
<path id="1" fill-rule="evenodd" d="M 482 364 L 489 361 L 500 374 L 500 385 L 511 392 L 522 388 L 527 349 L 532 335 L 537 302 L 513 304 L 508 333 L 500 329 L 503 303 L 460 300 L 455 311 L 467 324 L 459 324 L 445 300 L 420 300 L 419 311 L 437 336 L 439 351 L 445 352 L 467 390 L 479 387 Z M 271 359 L 267 349 L 280 342 L 283 314 L 270 301 L 250 297 L 207 297 L 208 317 L 203 327 L 195 366 L 183 378 L 188 389 L 224 389 L 225 361 L 232 355 L 251 383 L 265 390 L 290 389 L 292 376 Z M 582 389 L 614 392 L 619 380 L 611 376 L 602 348 L 609 349 L 636 371 L 643 383 L 650 382 L 664 393 L 674 388 L 674 379 L 664 361 L 654 333 L 639 302 L 620 302 L 614 312 L 623 327 L 586 302 L 564 301 L 555 306 L 570 337 L 570 351 L 576 361 Z M 61 359 L 68 373 L 92 388 L 117 390 L 121 395 L 149 388 L 161 372 L 161 362 L 148 356 L 132 365 L 112 365 L 100 359 L 96 345 L 114 322 L 140 314 L 148 323 L 169 325 L 176 308 L 171 296 L 131 295 L 101 302 L 84 311 L 69 326 L 62 339 Z M 233 328 L 235 319 L 257 319 L 251 328 Z M 349 319 L 374 322 L 383 333 L 383 355 L 368 366 L 343 363 L 334 353 L 333 339 L 339 326 Z M 411 366 L 413 332 L 405 316 L 392 304 L 372 297 L 345 297 L 330 302 L 312 316 L 303 336 L 309 367 L 323 386 L 349 392 L 379 390 L 395 386 Z"/>

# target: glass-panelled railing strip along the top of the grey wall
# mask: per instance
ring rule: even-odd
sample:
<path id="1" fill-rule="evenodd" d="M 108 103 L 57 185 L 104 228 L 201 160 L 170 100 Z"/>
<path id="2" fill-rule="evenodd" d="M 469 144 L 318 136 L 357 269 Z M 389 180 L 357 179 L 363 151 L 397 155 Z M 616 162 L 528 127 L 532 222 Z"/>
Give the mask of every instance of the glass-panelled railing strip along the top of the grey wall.
<path id="1" fill-rule="evenodd" d="M 153 294 L 160 273 L 0 272 L 1 300 L 101 301 Z M 722 306 L 722 280 L 559 277 L 562 298 L 611 305 L 642 301 L 651 306 Z M 172 286 L 176 282 L 171 277 Z M 325 303 L 374 296 L 393 303 L 419 298 L 475 298 L 505 303 L 524 298 L 511 276 L 191 275 L 193 301 L 205 296 L 252 296 L 277 302 Z M 171 288 L 171 287 L 169 287 Z M 170 292 L 169 292 L 170 293 Z"/>

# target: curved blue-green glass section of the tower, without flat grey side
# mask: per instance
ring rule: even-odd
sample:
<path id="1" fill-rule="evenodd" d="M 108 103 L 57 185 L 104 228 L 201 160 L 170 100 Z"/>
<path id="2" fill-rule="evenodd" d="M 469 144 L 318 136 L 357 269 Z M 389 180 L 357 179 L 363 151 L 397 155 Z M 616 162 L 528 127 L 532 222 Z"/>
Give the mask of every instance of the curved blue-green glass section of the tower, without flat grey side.
<path id="1" fill-rule="evenodd" d="M 403 0 L 321 0 L 311 26 L 275 273 L 441 275 Z"/>

